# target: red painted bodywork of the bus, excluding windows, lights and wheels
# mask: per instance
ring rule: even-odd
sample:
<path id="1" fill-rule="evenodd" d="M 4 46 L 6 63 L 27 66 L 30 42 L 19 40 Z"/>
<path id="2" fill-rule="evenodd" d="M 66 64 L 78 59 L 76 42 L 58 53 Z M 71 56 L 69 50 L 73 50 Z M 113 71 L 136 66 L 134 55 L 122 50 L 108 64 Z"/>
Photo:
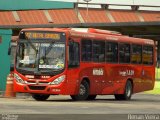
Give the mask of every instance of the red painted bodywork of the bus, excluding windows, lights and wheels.
<path id="1" fill-rule="evenodd" d="M 90 38 L 92 40 L 105 40 L 115 42 L 125 42 L 130 44 L 149 44 L 154 46 L 151 40 L 144 40 L 139 38 L 130 38 L 127 36 L 122 36 L 120 34 L 112 33 L 102 33 L 98 34 L 100 31 L 94 31 L 95 33 L 83 33 L 77 31 L 71 31 L 70 29 L 27 29 L 27 30 L 46 30 L 46 31 L 59 31 L 66 32 L 67 34 L 67 45 L 68 38 L 72 38 L 74 41 L 79 42 L 84 38 Z M 155 51 L 154 51 L 155 53 Z M 66 50 L 66 60 L 67 58 Z M 155 54 L 154 54 L 155 55 Z M 155 57 L 154 57 L 155 58 Z M 67 63 L 68 61 L 66 61 Z M 111 64 L 111 63 L 95 63 L 95 62 L 82 62 L 77 68 L 66 68 L 60 75 L 66 75 L 65 80 L 59 85 L 50 84 L 20 84 L 14 80 L 14 91 L 15 92 L 27 92 L 27 93 L 40 93 L 40 94 L 62 94 L 62 95 L 75 95 L 78 94 L 80 83 L 83 79 L 89 80 L 90 94 L 91 95 L 105 95 L 105 94 L 123 94 L 126 81 L 131 80 L 133 84 L 133 93 L 142 92 L 146 90 L 152 90 L 154 88 L 155 82 L 155 59 L 154 64 L 151 66 L 145 66 L 143 64 Z M 99 73 L 96 73 L 96 72 Z M 18 74 L 24 81 L 28 81 L 24 75 L 14 71 Z M 95 72 L 95 73 L 94 73 Z M 49 79 L 40 79 L 38 82 L 52 82 L 54 79 L 58 78 L 60 75 L 55 75 Z M 33 80 L 36 82 L 36 80 Z M 30 89 L 29 86 L 32 86 Z M 39 89 L 35 90 L 36 87 Z M 35 89 L 34 89 L 35 88 Z"/>

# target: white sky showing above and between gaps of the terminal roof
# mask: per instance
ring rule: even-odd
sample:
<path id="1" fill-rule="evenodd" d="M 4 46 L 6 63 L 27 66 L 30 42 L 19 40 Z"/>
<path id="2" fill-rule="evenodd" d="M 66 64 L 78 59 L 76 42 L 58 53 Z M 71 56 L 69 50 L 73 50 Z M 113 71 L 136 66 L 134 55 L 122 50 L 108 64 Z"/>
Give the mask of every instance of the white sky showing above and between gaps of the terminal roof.
<path id="1" fill-rule="evenodd" d="M 84 2 L 84 0 L 43 0 L 43 1 Z M 151 5 L 151 6 L 159 6 L 159 7 L 140 7 L 140 10 L 160 11 L 160 0 L 91 0 L 89 3 L 107 3 L 107 4 L 121 4 L 121 5 Z M 110 9 L 130 9 L 130 7 L 124 7 L 124 6 L 109 6 L 109 8 Z"/>

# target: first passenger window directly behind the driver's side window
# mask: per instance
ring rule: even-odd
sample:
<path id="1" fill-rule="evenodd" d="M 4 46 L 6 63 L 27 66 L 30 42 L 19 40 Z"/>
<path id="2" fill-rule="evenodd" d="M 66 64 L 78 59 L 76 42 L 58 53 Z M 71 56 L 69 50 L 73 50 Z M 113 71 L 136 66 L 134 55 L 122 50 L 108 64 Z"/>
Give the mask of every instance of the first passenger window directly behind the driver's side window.
<path id="1" fill-rule="evenodd" d="M 82 40 L 81 50 L 82 61 L 92 61 L 92 41 Z"/>

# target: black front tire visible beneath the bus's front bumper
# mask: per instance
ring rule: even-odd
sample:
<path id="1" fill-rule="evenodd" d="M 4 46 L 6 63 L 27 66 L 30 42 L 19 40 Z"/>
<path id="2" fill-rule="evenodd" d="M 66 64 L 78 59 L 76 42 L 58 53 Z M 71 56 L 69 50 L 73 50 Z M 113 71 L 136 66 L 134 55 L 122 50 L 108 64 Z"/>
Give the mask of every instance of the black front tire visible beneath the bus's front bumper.
<path id="1" fill-rule="evenodd" d="M 49 98 L 50 95 L 45 94 L 32 94 L 32 98 L 37 101 L 45 101 Z"/>

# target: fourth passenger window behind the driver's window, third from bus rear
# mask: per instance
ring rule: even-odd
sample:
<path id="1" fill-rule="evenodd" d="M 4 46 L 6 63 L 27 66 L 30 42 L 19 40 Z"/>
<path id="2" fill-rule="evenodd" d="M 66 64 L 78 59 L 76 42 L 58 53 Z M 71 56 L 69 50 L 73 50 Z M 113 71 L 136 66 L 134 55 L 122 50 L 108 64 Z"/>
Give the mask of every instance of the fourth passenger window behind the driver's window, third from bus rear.
<path id="1" fill-rule="evenodd" d="M 130 44 L 119 44 L 119 62 L 130 63 Z"/>

